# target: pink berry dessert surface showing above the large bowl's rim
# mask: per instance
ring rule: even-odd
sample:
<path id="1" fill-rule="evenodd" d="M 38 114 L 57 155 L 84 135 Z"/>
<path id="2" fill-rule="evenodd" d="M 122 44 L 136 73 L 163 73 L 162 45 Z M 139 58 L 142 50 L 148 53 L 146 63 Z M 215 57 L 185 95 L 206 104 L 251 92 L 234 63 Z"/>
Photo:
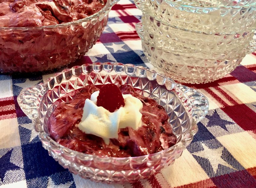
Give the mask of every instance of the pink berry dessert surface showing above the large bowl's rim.
<path id="1" fill-rule="evenodd" d="M 36 27 L 80 20 L 95 14 L 106 0 L 3 0 L 0 27 Z"/>

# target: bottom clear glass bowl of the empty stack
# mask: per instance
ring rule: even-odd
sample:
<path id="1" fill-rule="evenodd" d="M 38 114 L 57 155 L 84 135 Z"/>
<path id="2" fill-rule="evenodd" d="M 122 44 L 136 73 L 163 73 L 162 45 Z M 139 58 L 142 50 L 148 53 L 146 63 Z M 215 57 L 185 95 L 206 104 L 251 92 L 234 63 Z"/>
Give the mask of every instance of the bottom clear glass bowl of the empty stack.
<path id="1" fill-rule="evenodd" d="M 142 49 L 156 71 L 182 83 L 208 83 L 223 78 L 232 72 L 244 57 L 231 60 L 194 58 L 189 53 L 165 51 L 143 40 Z"/>

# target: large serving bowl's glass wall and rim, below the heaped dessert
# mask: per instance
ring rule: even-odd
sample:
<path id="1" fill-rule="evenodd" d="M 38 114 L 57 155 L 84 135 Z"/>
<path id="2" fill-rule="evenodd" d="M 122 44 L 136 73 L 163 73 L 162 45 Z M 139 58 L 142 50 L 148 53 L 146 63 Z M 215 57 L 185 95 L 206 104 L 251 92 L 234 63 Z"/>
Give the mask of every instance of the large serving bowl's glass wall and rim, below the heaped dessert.
<path id="1" fill-rule="evenodd" d="M 0 72 L 38 72 L 67 65 L 96 43 L 119 0 L 69 23 L 42 27 L 0 27 Z"/>

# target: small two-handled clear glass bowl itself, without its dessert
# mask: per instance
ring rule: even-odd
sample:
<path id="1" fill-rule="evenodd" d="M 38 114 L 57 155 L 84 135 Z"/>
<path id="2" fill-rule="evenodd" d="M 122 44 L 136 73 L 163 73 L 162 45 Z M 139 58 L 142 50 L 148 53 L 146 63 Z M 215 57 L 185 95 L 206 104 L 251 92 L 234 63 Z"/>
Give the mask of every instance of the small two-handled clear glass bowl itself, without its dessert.
<path id="1" fill-rule="evenodd" d="M 169 115 L 177 144 L 158 153 L 138 157 L 101 157 L 70 150 L 50 138 L 47 120 L 60 102 L 67 102 L 88 84 L 129 84 L 136 92 L 155 99 Z M 208 111 L 208 100 L 200 92 L 176 84 L 172 79 L 134 65 L 94 63 L 75 66 L 24 90 L 17 97 L 23 112 L 35 122 L 35 130 L 50 156 L 73 174 L 96 182 L 136 182 L 157 174 L 180 157 Z"/>

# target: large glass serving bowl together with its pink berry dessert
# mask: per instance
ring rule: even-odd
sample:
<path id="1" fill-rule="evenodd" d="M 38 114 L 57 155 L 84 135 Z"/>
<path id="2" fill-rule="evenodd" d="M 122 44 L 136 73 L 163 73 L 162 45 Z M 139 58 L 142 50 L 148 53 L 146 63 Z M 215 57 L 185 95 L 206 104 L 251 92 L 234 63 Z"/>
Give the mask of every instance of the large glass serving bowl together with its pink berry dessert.
<path id="1" fill-rule="evenodd" d="M 96 43 L 118 0 L 0 1 L 0 73 L 74 62 Z"/>

